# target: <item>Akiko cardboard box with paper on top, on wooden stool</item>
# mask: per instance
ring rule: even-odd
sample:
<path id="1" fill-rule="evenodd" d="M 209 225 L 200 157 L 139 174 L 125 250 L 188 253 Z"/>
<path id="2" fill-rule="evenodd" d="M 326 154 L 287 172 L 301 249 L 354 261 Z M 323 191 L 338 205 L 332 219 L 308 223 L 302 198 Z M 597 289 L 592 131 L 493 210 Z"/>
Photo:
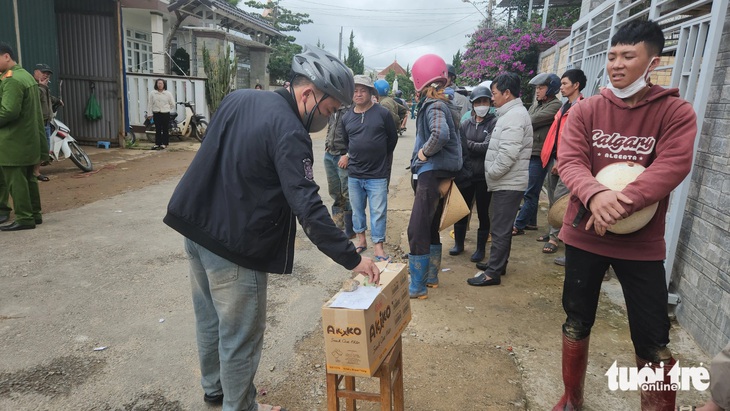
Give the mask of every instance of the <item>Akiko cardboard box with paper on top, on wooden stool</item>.
<path id="1" fill-rule="evenodd" d="M 378 287 L 360 285 L 353 292 L 340 291 L 322 307 L 329 373 L 372 377 L 411 321 L 407 265 L 377 265 L 381 269 Z M 366 279 L 355 277 L 360 284 Z M 366 308 L 344 308 L 358 303 Z"/>

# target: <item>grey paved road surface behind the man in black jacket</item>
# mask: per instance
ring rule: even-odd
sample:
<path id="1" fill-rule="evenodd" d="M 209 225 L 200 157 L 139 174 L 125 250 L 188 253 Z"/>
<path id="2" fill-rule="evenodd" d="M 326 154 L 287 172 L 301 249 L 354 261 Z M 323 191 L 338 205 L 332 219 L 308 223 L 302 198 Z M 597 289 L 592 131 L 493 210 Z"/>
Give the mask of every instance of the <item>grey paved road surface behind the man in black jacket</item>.
<path id="1" fill-rule="evenodd" d="M 326 184 L 323 134 L 313 140 L 315 180 Z M 406 173 L 412 144 L 407 136 L 396 148 L 393 184 Z M 0 236 L 0 410 L 201 406 L 191 377 L 198 367 L 188 265 L 182 237 L 162 223 L 177 181 Z M 320 194 L 329 206 L 326 188 Z M 322 303 L 349 276 L 302 230 L 294 271 L 269 280 L 260 370 L 270 381 L 285 377 L 295 343 L 315 329 Z"/>

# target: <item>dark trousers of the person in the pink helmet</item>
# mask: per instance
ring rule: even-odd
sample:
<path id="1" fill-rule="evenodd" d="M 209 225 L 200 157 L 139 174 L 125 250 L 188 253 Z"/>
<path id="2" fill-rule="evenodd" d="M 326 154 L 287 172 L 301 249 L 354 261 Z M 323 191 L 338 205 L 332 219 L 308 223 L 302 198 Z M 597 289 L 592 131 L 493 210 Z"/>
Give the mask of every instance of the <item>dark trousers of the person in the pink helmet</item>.
<path id="1" fill-rule="evenodd" d="M 439 224 L 444 201 L 439 193 L 439 184 L 443 180 L 434 171 L 423 172 L 418 175 L 418 180 L 411 180 L 415 191 L 411 219 L 408 222 L 408 246 L 411 255 L 430 254 L 431 244 L 441 244 Z"/>

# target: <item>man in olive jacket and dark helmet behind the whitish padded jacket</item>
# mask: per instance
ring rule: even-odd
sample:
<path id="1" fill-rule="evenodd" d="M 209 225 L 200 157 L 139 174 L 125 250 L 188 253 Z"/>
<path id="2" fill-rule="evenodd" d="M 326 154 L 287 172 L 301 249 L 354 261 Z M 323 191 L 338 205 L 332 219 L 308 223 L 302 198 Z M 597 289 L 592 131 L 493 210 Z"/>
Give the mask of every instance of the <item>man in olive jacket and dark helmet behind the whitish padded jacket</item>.
<path id="1" fill-rule="evenodd" d="M 535 86 L 536 103 L 530 106 L 532 120 L 532 153 L 528 173 L 527 190 L 523 197 L 522 208 L 515 219 L 512 235 L 524 234 L 525 230 L 537 230 L 537 203 L 540 198 L 542 183 L 547 174 L 547 167 L 542 166 L 540 152 L 555 113 L 560 110 L 561 103 L 556 94 L 560 92 L 560 77 L 552 73 L 540 73 L 530 80 Z M 545 239 L 542 252 L 551 254 L 558 250 L 557 239 Z"/>

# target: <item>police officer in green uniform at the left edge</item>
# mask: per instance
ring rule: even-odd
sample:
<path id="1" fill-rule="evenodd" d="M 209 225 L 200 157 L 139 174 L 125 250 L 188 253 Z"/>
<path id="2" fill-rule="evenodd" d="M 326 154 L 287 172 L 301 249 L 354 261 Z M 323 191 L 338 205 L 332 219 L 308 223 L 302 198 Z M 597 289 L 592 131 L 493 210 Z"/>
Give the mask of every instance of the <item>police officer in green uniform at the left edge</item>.
<path id="1" fill-rule="evenodd" d="M 0 223 L 9 218 L 13 198 L 15 221 L 0 231 L 41 224 L 41 197 L 33 166 L 48 153 L 38 84 L 15 62 L 15 52 L 0 42 Z"/>

